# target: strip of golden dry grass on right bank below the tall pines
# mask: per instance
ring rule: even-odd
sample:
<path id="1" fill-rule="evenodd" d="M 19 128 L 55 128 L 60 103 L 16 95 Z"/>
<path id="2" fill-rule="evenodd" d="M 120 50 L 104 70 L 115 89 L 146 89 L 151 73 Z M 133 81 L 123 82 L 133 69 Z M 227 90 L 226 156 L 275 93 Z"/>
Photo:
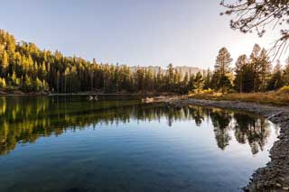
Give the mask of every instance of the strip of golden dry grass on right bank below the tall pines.
<path id="1" fill-rule="evenodd" d="M 282 87 L 278 91 L 267 93 L 229 93 L 222 95 L 221 93 L 207 91 L 200 94 L 191 94 L 189 97 L 208 100 L 230 100 L 271 105 L 289 105 L 289 87 Z"/>

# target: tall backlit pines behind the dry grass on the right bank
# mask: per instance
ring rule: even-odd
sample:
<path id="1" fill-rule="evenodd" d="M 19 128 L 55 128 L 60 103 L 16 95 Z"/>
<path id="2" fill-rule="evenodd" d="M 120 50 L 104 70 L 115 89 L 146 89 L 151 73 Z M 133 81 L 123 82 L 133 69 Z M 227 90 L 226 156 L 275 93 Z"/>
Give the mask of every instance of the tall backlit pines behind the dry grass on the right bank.
<path id="1" fill-rule="evenodd" d="M 266 92 L 289 85 L 289 59 L 284 67 L 280 60 L 273 67 L 267 50 L 255 44 L 249 56 L 240 55 L 231 68 L 232 59 L 226 48 L 219 50 L 210 87 L 222 92 Z"/>

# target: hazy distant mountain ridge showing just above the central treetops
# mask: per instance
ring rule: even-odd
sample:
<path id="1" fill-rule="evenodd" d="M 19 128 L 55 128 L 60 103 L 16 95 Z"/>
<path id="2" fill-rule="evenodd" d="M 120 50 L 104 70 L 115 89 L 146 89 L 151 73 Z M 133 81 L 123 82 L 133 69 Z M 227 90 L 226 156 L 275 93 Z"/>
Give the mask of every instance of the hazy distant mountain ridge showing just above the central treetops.
<path id="1" fill-rule="evenodd" d="M 166 71 L 166 69 L 163 69 L 159 66 L 147 66 L 147 67 L 133 66 L 133 67 L 130 67 L 130 69 L 131 71 L 135 71 L 137 69 L 150 69 L 155 73 L 158 73 L 159 69 L 161 69 L 163 73 L 165 73 Z M 178 71 L 181 71 L 182 75 L 188 73 L 189 76 L 195 75 L 198 72 L 202 73 L 204 71 L 204 69 L 200 69 L 198 67 L 189 67 L 189 66 L 176 66 L 176 67 L 173 67 L 173 69 L 177 69 Z"/>

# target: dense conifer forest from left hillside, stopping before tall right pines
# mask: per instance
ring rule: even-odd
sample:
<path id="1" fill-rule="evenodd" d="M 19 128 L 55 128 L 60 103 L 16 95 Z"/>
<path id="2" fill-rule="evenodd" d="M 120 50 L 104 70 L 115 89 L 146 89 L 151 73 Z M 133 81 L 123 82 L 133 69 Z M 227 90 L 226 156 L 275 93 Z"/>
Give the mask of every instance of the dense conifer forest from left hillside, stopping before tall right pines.
<path id="1" fill-rule="evenodd" d="M 40 50 L 34 43 L 16 42 L 13 35 L 0 30 L 0 87 L 53 93 L 187 93 L 194 80 L 194 76 L 173 69 L 172 64 L 165 72 L 142 67 L 132 71 L 126 65 L 65 57 L 59 50 Z"/>

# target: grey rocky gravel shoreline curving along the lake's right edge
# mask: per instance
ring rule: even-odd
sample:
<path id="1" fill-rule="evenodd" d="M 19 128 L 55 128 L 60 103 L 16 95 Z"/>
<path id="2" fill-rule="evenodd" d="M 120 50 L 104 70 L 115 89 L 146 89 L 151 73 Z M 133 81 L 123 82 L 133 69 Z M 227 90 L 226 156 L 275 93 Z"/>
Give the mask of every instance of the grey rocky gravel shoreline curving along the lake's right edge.
<path id="1" fill-rule="evenodd" d="M 278 140 L 270 150 L 271 160 L 266 167 L 257 169 L 244 191 L 289 191 L 289 107 L 260 105 L 239 101 L 210 101 L 199 99 L 173 99 L 163 101 L 173 107 L 203 105 L 219 108 L 246 110 L 261 114 L 280 126 Z"/>

